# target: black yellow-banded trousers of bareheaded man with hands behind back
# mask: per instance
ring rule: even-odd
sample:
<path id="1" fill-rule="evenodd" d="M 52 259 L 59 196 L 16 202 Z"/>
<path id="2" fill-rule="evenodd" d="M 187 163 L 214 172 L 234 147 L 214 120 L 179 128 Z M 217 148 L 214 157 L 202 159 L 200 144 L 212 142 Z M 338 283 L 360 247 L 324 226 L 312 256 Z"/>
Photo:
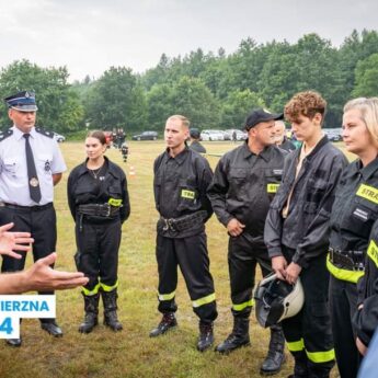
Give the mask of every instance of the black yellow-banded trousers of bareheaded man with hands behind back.
<path id="1" fill-rule="evenodd" d="M 181 239 L 158 234 L 156 254 L 159 271 L 159 311 L 165 313 L 177 310 L 174 298 L 179 265 L 194 312 L 203 322 L 213 322 L 218 312 L 205 232 Z"/>

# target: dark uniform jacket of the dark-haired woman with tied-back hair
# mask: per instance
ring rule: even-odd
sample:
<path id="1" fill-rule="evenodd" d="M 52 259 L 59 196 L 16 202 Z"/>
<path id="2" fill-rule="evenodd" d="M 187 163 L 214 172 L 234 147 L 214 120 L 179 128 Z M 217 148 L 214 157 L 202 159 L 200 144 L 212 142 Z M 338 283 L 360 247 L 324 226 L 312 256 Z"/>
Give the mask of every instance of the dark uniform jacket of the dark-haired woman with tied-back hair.
<path id="1" fill-rule="evenodd" d="M 124 171 L 112 163 L 105 157 L 104 180 L 93 180 L 87 168 L 87 161 L 76 167 L 68 177 L 67 196 L 68 205 L 73 219 L 77 219 L 78 206 L 87 204 L 107 204 L 112 198 L 121 199 L 119 211 L 107 218 L 96 216 L 84 216 L 84 220 L 101 222 L 121 219 L 124 222 L 130 214 L 130 204 L 127 193 L 127 182 Z M 112 211 L 113 213 L 113 211 Z"/>

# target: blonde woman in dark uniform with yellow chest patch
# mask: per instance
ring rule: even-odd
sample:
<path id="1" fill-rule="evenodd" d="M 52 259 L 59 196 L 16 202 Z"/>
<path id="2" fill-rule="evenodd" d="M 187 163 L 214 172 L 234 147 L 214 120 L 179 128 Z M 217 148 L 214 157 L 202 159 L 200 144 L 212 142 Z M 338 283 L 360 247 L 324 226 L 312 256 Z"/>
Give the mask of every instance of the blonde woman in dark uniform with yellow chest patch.
<path id="1" fill-rule="evenodd" d="M 342 378 L 356 377 L 360 356 L 352 318 L 373 224 L 378 218 L 378 99 L 344 106 L 345 149 L 358 156 L 344 171 L 332 208 L 330 305 L 336 362 Z"/>

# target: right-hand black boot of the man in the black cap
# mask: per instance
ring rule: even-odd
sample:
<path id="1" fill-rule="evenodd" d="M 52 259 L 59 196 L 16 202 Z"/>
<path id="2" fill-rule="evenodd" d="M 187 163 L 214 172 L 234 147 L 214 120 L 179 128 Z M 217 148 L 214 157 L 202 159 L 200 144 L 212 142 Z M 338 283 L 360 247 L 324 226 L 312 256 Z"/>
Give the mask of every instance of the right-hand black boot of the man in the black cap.
<path id="1" fill-rule="evenodd" d="M 280 370 L 285 362 L 285 337 L 280 325 L 271 327 L 271 341 L 267 355 L 261 365 L 260 373 L 262 375 L 274 375 Z"/>

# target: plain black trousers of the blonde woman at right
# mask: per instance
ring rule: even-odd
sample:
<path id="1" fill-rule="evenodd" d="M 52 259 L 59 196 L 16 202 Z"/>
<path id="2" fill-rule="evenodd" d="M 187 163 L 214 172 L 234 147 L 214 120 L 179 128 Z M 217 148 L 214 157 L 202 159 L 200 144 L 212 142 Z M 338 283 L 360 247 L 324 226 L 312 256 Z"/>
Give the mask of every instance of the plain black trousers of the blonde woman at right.
<path id="1" fill-rule="evenodd" d="M 330 309 L 336 363 L 341 378 L 356 378 L 362 356 L 352 319 L 357 311 L 357 285 L 331 275 Z"/>

